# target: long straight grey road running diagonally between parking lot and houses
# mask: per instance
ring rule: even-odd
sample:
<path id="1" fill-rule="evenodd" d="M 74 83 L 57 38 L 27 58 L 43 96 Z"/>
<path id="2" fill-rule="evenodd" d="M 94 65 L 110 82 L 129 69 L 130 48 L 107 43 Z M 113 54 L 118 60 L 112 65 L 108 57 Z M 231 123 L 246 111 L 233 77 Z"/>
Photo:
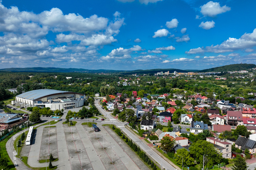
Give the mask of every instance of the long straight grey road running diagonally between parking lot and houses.
<path id="1" fill-rule="evenodd" d="M 101 105 L 99 105 L 99 100 L 95 100 L 95 106 L 99 109 L 99 111 L 109 120 L 113 119 L 113 117 L 110 115 L 110 112 L 105 111 L 102 109 Z M 120 126 L 125 125 L 125 122 L 119 122 L 118 119 L 116 119 L 115 122 L 113 122 L 114 125 Z M 157 154 L 154 150 L 152 150 L 147 144 L 142 142 L 137 136 L 135 136 L 133 133 L 131 133 L 130 130 L 128 130 L 125 127 L 120 127 L 122 131 L 129 136 L 136 144 L 140 146 L 142 150 L 145 151 L 152 159 L 154 159 L 158 164 L 162 164 L 162 169 L 165 170 L 176 170 L 175 167 L 173 167 L 169 162 L 167 162 L 165 159 L 163 159 L 159 154 Z"/>

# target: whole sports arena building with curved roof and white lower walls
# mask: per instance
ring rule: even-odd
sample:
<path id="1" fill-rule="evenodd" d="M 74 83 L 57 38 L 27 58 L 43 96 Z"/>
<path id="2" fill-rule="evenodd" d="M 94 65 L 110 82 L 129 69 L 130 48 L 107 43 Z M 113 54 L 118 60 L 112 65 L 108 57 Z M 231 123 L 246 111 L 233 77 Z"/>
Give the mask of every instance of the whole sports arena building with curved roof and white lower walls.
<path id="1" fill-rule="evenodd" d="M 84 95 L 50 89 L 28 91 L 15 98 L 15 105 L 20 108 L 40 107 L 51 108 L 52 111 L 78 108 L 84 105 Z"/>

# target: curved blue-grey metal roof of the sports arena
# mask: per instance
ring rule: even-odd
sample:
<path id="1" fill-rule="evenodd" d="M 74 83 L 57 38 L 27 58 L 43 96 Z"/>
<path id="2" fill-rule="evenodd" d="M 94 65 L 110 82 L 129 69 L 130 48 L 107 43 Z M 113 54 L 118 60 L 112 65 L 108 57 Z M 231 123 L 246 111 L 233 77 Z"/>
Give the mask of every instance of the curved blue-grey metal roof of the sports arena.
<path id="1" fill-rule="evenodd" d="M 23 94 L 17 95 L 16 97 L 20 97 L 23 99 L 36 100 L 52 94 L 65 94 L 65 93 L 74 93 L 74 92 L 58 91 L 58 90 L 52 90 L 52 89 L 40 89 L 40 90 L 27 91 Z"/>

